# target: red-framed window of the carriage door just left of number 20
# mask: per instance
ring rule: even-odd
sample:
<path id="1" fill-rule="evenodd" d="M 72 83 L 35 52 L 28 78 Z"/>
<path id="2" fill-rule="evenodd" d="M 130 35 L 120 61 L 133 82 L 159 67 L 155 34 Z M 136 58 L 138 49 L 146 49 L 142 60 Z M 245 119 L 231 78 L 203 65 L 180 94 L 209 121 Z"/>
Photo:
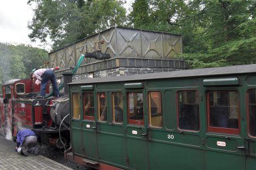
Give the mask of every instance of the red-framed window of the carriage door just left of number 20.
<path id="1" fill-rule="evenodd" d="M 144 125 L 143 93 L 129 92 L 127 97 L 129 124 Z"/>

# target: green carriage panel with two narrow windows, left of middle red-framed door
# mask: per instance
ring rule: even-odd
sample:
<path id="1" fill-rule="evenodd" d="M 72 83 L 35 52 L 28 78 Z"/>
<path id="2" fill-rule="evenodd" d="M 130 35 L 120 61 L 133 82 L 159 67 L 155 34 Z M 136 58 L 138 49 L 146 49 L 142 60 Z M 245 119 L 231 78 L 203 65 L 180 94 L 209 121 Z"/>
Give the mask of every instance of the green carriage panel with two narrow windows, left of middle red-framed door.
<path id="1" fill-rule="evenodd" d="M 114 87 L 118 88 L 118 86 Z M 97 106 L 99 157 L 105 162 L 121 166 L 122 168 L 127 167 L 122 92 L 97 92 Z"/>

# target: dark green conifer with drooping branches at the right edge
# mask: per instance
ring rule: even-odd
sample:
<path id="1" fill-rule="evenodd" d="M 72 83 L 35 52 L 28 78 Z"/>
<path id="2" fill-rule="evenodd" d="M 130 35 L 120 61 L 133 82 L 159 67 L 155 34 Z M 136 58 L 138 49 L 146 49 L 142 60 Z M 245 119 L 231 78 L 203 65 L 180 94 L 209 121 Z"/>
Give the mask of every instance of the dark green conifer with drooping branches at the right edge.
<path id="1" fill-rule="evenodd" d="M 255 2 L 203 1 L 199 14 L 209 45 L 201 54 L 184 54 L 193 67 L 216 67 L 256 63 Z M 193 56 L 193 58 L 191 57 Z"/>

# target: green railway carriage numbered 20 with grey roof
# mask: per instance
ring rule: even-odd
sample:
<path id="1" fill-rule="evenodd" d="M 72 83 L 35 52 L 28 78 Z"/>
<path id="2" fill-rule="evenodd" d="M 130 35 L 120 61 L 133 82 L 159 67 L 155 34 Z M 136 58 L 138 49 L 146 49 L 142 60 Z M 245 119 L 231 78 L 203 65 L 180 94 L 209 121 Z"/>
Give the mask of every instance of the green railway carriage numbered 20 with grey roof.
<path id="1" fill-rule="evenodd" d="M 69 90 L 77 162 L 256 169 L 256 65 L 86 79 Z"/>

